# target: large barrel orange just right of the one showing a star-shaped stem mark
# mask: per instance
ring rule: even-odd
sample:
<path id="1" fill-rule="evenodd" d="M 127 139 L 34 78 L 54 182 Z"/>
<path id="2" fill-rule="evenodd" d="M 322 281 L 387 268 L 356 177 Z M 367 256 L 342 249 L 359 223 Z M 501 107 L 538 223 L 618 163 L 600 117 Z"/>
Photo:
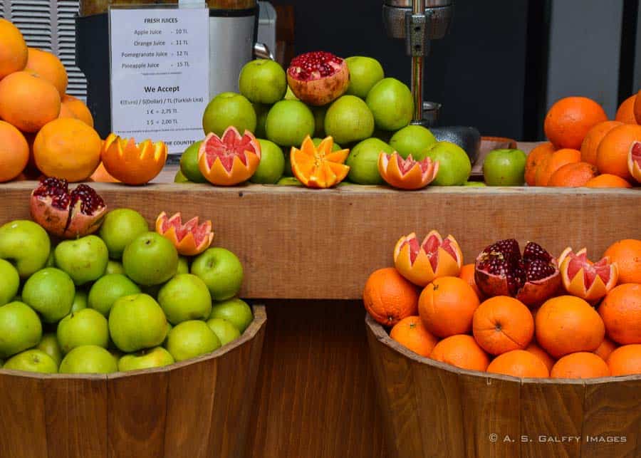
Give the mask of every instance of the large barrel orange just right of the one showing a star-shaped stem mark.
<path id="1" fill-rule="evenodd" d="M 556 359 L 578 351 L 594 351 L 605 337 L 599 314 L 575 296 L 548 299 L 538 309 L 534 323 L 536 342 Z"/>

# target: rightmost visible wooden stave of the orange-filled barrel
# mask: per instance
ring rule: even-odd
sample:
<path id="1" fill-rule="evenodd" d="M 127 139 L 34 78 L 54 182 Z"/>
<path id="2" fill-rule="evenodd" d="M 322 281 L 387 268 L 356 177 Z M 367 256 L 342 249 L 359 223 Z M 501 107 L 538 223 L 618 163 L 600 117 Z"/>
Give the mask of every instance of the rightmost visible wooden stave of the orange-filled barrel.
<path id="1" fill-rule="evenodd" d="M 641 375 L 586 382 L 583 457 L 641 457 Z"/>

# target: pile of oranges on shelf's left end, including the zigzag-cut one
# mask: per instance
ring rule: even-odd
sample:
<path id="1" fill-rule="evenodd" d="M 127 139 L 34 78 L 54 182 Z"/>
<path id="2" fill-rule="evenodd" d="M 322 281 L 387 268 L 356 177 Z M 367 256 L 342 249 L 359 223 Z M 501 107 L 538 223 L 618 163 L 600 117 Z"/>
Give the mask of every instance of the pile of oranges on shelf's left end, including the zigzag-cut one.
<path id="1" fill-rule="evenodd" d="M 19 29 L 0 19 L 0 183 L 44 175 L 144 184 L 160 173 L 164 143 L 123 139 L 108 150 L 87 106 L 66 94 L 67 84 L 60 59 L 29 48 Z"/>

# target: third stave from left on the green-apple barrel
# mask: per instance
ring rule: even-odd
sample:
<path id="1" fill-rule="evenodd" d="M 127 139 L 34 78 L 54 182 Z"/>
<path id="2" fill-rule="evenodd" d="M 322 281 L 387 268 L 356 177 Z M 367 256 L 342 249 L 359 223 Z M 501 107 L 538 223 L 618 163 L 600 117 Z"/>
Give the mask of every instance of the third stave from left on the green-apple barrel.
<path id="1" fill-rule="evenodd" d="M 109 377 L 109 456 L 158 458 L 165 450 L 167 372 Z"/>

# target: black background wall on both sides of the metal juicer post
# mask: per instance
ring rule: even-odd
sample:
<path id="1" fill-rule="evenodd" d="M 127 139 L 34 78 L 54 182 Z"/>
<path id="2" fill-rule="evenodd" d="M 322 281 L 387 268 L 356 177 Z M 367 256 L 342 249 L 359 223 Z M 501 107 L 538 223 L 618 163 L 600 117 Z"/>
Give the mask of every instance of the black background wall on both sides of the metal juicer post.
<path id="1" fill-rule="evenodd" d="M 404 41 L 385 35 L 382 0 L 271 1 L 294 6 L 297 54 L 325 49 L 342 57 L 372 56 L 386 76 L 410 82 Z M 536 97 L 526 99 L 526 85 L 536 91 L 538 83 L 528 76 L 526 63 L 544 71 L 537 48 L 528 56 L 528 15 L 541 14 L 546 2 L 535 1 L 533 12 L 530 3 L 455 0 L 449 36 L 432 44 L 425 64 L 425 98 L 443 104 L 443 125 L 474 125 L 483 135 L 528 137 L 524 116 L 533 110 L 530 104 Z M 537 22 L 533 36 L 537 28 L 545 28 Z"/>

